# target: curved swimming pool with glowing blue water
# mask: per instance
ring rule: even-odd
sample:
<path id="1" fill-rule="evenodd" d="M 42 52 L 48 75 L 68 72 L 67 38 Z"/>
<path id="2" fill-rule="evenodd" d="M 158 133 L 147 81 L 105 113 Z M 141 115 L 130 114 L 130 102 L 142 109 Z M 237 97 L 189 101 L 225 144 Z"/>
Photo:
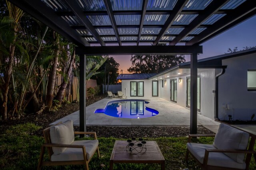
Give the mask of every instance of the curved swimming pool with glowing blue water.
<path id="1" fill-rule="evenodd" d="M 96 109 L 94 113 L 104 113 L 112 117 L 140 119 L 158 115 L 156 109 L 146 107 L 146 100 L 113 100 L 103 109 Z"/>

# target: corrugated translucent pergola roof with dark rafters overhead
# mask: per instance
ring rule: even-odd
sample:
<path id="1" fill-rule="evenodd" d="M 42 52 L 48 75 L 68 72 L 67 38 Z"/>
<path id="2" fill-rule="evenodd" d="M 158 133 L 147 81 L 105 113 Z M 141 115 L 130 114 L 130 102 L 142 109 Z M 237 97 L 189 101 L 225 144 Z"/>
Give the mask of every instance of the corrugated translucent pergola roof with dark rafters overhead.
<path id="1" fill-rule="evenodd" d="M 255 0 L 9 0 L 79 47 L 200 45 L 256 14 Z"/>

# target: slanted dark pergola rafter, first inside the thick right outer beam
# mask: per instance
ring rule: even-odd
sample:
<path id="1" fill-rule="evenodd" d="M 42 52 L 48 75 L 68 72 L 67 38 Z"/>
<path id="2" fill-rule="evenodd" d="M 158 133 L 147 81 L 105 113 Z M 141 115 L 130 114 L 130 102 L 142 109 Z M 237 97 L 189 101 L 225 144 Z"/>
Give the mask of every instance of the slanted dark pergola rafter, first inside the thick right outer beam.
<path id="1" fill-rule="evenodd" d="M 213 1 L 210 3 L 202 14 L 198 15 L 185 29 L 181 31 L 181 33 L 176 36 L 169 45 L 176 45 L 180 42 L 184 37 L 186 37 L 190 31 L 194 30 L 201 23 L 206 21 L 212 14 L 215 14 L 222 6 L 224 6 L 229 0 L 221 0 L 221 1 Z"/>

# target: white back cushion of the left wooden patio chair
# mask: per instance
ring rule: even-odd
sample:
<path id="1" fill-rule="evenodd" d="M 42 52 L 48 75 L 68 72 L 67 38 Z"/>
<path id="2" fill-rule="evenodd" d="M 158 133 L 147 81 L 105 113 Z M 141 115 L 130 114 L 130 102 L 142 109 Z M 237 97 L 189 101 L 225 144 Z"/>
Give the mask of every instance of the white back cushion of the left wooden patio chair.
<path id="1" fill-rule="evenodd" d="M 56 126 L 50 127 L 51 142 L 55 144 L 70 145 L 74 142 L 74 128 L 72 120 L 67 120 Z M 67 148 L 53 147 L 53 154 L 60 154 Z"/>

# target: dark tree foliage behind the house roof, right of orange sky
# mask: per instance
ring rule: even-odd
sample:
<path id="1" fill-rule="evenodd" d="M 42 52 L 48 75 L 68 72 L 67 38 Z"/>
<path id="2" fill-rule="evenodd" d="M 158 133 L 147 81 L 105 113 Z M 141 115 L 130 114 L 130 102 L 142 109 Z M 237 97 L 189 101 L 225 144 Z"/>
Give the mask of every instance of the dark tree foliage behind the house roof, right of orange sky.
<path id="1" fill-rule="evenodd" d="M 184 63 L 184 55 L 132 55 L 132 66 L 128 72 L 159 73 L 168 68 Z"/>

